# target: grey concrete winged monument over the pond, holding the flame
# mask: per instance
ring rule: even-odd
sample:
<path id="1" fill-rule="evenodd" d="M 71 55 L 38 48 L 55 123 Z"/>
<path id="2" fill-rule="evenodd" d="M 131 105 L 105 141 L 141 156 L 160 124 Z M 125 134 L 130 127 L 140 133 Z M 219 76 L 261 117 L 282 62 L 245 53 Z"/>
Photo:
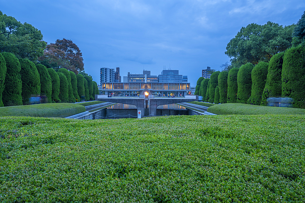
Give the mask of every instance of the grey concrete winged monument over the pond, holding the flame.
<path id="1" fill-rule="evenodd" d="M 143 91 L 144 92 L 144 91 Z M 152 97 L 149 95 L 149 97 Z M 135 105 L 138 110 L 141 110 L 141 117 L 145 116 L 145 100 L 149 100 L 149 113 L 148 115 L 157 115 L 157 107 L 165 104 L 172 103 L 183 103 L 183 102 L 191 102 L 196 101 L 198 99 L 192 98 L 133 98 L 133 97 L 103 97 L 103 95 L 95 95 L 96 101 L 105 101 L 105 102 L 113 102 L 113 103 L 124 103 Z M 146 110 L 148 110 L 146 109 Z"/>

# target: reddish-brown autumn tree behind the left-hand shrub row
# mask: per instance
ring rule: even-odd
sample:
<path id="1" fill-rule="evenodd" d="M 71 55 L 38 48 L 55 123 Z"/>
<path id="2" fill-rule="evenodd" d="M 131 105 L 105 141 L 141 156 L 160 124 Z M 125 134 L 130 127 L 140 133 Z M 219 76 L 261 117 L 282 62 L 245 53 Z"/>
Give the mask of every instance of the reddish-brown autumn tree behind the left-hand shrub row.
<path id="1" fill-rule="evenodd" d="M 47 67 L 66 68 L 75 74 L 84 70 L 84 63 L 81 50 L 72 40 L 56 40 L 48 44 L 43 56 L 38 60 Z"/>

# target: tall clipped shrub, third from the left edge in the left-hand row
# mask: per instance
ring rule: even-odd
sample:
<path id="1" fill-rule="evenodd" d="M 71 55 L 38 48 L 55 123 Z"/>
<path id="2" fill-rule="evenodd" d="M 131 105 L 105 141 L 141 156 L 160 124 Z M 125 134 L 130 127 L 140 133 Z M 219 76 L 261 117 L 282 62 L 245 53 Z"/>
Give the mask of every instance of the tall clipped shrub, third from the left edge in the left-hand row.
<path id="1" fill-rule="evenodd" d="M 19 59 L 21 66 L 21 81 L 22 81 L 22 103 L 29 104 L 31 96 L 40 95 L 40 77 L 35 64 L 28 59 Z"/>

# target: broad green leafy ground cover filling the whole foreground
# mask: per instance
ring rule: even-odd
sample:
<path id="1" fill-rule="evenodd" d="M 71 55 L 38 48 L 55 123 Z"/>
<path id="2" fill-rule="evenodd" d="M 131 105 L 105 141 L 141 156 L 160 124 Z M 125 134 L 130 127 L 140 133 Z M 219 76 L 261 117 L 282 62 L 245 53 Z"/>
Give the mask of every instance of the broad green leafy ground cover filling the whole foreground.
<path id="1" fill-rule="evenodd" d="M 0 202 L 304 202 L 305 116 L 0 118 Z"/>

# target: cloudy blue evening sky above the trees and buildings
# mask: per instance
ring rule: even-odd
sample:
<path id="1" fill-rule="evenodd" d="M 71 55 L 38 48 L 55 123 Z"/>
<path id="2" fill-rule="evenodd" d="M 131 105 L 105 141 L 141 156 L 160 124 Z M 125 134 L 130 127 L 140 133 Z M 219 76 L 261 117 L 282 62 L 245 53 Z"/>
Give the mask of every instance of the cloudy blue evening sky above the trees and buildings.
<path id="1" fill-rule="evenodd" d="M 43 39 L 70 39 L 80 48 L 85 72 L 99 84 L 99 69 L 120 75 L 179 70 L 196 86 L 201 70 L 229 61 L 228 42 L 242 26 L 297 23 L 304 0 L 0 0 L 0 10 L 41 30 Z"/>

